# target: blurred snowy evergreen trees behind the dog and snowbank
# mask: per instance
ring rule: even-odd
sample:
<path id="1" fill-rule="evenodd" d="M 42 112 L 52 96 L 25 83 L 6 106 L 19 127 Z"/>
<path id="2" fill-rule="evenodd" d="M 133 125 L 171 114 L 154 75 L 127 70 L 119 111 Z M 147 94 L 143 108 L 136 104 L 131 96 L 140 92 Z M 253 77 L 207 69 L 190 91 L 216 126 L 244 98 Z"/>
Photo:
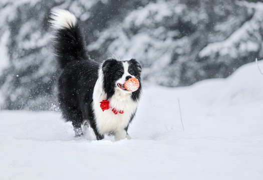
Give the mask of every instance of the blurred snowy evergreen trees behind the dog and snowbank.
<path id="1" fill-rule="evenodd" d="M 53 7 L 79 18 L 93 59 L 136 58 L 144 86 L 227 77 L 263 58 L 259 0 L 1 0 L 1 109 L 57 108 Z"/>

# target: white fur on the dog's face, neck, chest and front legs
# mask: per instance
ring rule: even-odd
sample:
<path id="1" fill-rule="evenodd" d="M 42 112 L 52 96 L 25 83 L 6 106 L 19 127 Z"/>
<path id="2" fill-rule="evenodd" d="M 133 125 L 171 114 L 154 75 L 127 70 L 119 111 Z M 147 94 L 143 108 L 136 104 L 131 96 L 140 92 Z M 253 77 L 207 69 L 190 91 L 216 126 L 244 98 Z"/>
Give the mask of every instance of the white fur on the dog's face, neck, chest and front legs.
<path id="1" fill-rule="evenodd" d="M 124 75 L 118 80 L 123 82 L 124 76 L 128 74 L 128 62 L 123 62 L 124 65 Z M 130 75 L 130 74 L 128 74 Z M 131 92 L 119 88 L 116 84 L 115 93 L 109 99 L 110 106 L 117 109 L 123 110 L 123 114 L 114 114 L 112 108 L 102 111 L 100 107 L 100 102 L 106 100 L 107 95 L 103 90 L 103 74 L 102 69 L 99 69 L 99 77 L 94 87 L 93 92 L 93 109 L 96 118 L 96 124 L 98 131 L 101 134 L 114 132 L 116 139 L 124 139 L 125 137 L 130 138 L 126 133 L 125 127 L 128 125 L 131 115 L 135 112 L 138 102 L 135 102 L 131 98 Z"/>

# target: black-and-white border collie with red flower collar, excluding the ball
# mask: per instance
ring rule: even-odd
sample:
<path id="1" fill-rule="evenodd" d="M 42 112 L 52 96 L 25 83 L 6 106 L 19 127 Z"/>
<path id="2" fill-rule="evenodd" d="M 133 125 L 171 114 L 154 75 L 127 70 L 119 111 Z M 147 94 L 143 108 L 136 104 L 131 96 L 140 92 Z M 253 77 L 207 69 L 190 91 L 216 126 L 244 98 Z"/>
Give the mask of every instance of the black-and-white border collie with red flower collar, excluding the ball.
<path id="1" fill-rule="evenodd" d="M 74 14 L 53 9 L 51 26 L 53 46 L 61 69 L 58 99 L 63 117 L 72 121 L 76 136 L 83 135 L 84 122 L 92 127 L 97 140 L 104 134 L 116 139 L 130 138 L 127 133 L 141 96 L 141 65 L 135 59 L 121 61 L 116 57 L 102 63 L 91 59 L 86 51 L 84 35 Z M 131 77 L 140 86 L 128 91 L 124 83 Z M 102 103 L 108 108 L 103 109 Z"/>

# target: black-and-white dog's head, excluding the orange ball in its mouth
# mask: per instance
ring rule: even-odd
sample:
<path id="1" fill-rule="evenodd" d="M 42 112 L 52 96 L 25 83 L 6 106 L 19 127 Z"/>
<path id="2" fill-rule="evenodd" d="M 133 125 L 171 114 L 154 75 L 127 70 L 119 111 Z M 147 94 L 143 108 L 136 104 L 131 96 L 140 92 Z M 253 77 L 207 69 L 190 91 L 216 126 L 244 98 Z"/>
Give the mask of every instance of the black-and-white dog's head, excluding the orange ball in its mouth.
<path id="1" fill-rule="evenodd" d="M 120 93 L 130 93 L 134 100 L 139 98 L 141 91 L 141 65 L 135 60 L 120 61 L 115 58 L 109 58 L 102 64 L 103 89 L 109 99 L 116 91 Z M 134 91 L 128 91 L 124 83 L 131 77 L 139 80 L 140 86 Z"/>

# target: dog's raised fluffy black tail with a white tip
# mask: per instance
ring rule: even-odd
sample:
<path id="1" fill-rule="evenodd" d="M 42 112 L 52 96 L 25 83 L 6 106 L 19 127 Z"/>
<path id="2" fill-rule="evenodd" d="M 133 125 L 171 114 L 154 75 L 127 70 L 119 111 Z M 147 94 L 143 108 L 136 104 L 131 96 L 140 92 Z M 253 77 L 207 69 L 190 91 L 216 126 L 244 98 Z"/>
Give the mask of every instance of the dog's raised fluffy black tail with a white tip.
<path id="1" fill-rule="evenodd" d="M 55 8 L 50 17 L 54 29 L 53 46 L 60 67 L 64 68 L 72 60 L 89 59 L 76 16 L 68 10 Z"/>

